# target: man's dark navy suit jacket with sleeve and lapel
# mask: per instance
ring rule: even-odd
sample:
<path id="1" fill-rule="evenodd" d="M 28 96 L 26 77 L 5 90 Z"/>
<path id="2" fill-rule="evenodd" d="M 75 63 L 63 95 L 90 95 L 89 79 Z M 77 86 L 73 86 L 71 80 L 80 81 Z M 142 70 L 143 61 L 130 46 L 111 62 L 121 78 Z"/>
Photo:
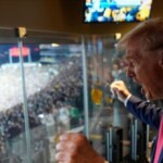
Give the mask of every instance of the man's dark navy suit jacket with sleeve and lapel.
<path id="1" fill-rule="evenodd" d="M 163 109 L 156 108 L 155 104 L 151 104 L 150 102 L 142 101 L 134 96 L 129 98 L 127 101 L 127 110 L 134 114 L 136 117 L 141 120 L 142 122 L 149 124 L 150 126 L 160 129 L 161 120 L 163 121 Z M 154 140 L 153 150 L 151 154 L 151 163 L 154 161 L 154 154 L 156 150 L 158 136 Z M 163 163 L 163 146 L 162 151 L 159 156 L 159 162 Z"/>

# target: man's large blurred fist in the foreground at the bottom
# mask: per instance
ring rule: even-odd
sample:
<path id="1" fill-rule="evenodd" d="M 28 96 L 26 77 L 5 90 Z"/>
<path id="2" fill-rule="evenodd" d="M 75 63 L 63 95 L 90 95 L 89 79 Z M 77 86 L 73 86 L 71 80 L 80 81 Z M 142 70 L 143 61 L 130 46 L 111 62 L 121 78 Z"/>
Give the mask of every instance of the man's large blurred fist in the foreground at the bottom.
<path id="1" fill-rule="evenodd" d="M 55 159 L 59 163 L 104 163 L 82 134 L 64 134 L 57 145 Z"/>

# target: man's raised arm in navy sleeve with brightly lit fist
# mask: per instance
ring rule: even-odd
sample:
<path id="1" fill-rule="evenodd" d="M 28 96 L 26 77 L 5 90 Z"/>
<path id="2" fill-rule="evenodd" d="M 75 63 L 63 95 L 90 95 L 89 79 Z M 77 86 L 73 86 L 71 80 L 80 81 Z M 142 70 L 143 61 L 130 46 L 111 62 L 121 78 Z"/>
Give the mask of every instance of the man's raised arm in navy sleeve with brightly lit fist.
<path id="1" fill-rule="evenodd" d="M 131 96 L 122 80 L 112 83 L 111 90 L 125 103 L 127 110 L 136 117 L 150 126 L 159 128 L 163 109 L 156 108 L 150 102 L 142 101 L 139 98 Z"/>

